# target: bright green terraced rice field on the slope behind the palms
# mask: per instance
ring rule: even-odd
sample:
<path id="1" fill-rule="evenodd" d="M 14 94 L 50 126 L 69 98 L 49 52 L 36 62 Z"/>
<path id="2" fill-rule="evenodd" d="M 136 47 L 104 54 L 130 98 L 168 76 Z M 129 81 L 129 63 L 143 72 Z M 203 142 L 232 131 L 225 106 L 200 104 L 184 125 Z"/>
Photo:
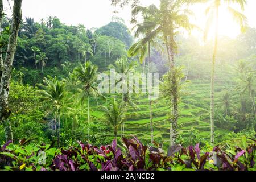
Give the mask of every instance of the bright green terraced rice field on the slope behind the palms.
<path id="1" fill-rule="evenodd" d="M 216 92 L 221 92 L 224 88 L 216 84 Z M 207 81 L 192 81 L 185 90 L 179 104 L 178 133 L 189 136 L 191 130 L 199 131 L 201 137 L 210 139 L 210 83 Z M 125 135 L 136 135 L 142 141 L 150 142 L 150 113 L 149 100 L 146 95 L 134 98 L 139 110 L 134 111 L 129 108 L 126 115 Z M 96 109 L 96 107 L 94 107 Z M 152 103 L 152 115 L 154 122 L 154 139 L 157 142 L 169 143 L 170 122 L 168 113 L 171 112 L 170 104 L 165 98 L 159 98 Z M 93 111 L 96 118 L 102 116 L 101 111 Z M 227 131 L 215 129 L 216 136 L 221 137 Z"/>

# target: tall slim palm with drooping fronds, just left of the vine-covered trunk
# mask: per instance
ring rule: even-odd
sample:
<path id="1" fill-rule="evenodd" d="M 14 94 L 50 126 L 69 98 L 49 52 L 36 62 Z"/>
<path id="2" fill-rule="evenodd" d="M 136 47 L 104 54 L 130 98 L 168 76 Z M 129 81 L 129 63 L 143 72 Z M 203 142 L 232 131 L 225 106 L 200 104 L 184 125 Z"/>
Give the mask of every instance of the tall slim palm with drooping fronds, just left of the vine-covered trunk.
<path id="1" fill-rule="evenodd" d="M 158 44 L 158 42 L 155 41 L 155 36 L 151 35 L 151 32 L 155 28 L 155 24 L 151 23 L 151 20 L 154 19 L 155 14 L 158 12 L 158 9 L 155 5 L 151 5 L 149 7 L 142 7 L 137 6 L 135 9 L 133 9 L 133 14 L 137 14 L 138 12 L 141 12 L 143 15 L 143 23 L 139 23 L 135 26 L 135 37 L 139 38 L 139 35 L 144 35 L 145 38 L 139 40 L 137 43 L 133 44 L 131 48 L 128 51 L 129 56 L 136 56 L 140 55 L 139 61 L 141 64 L 145 61 L 146 54 L 148 52 L 148 73 L 150 73 L 150 46 L 151 44 Z M 134 19 L 135 21 L 135 19 Z M 136 21 L 135 21 L 136 22 Z M 158 44 L 160 45 L 160 44 Z M 145 65 L 145 64 L 144 64 Z M 144 72 L 144 65 L 143 65 L 143 72 Z M 148 96 L 150 97 L 150 129 L 151 129 L 151 143 L 154 141 L 154 134 L 153 134 L 153 118 L 152 118 L 152 99 L 151 99 L 151 84 L 149 88 Z"/>

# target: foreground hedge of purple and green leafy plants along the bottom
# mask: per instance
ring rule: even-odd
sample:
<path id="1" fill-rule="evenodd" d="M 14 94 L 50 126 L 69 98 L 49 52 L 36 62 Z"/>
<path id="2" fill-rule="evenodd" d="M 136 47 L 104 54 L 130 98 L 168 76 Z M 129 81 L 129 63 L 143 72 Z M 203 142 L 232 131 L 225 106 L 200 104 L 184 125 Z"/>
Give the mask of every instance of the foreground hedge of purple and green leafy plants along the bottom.
<path id="1" fill-rule="evenodd" d="M 253 139 L 251 139 L 253 140 Z M 56 148 L 20 146 L 6 143 L 0 150 L 1 165 L 6 170 L 53 170 L 53 171 L 152 171 L 152 170 L 255 170 L 256 140 L 245 144 L 243 148 L 235 147 L 222 150 L 216 146 L 212 151 L 203 152 L 200 144 L 183 147 L 172 146 L 168 152 L 155 143 L 144 146 L 136 137 L 123 138 L 123 148 L 117 141 L 107 146 L 96 147 L 79 142 L 80 147 Z M 208 146 L 209 148 L 209 146 Z M 40 151 L 46 152 L 46 163 L 39 164 Z M 1 166 L 1 168 L 2 168 Z"/>

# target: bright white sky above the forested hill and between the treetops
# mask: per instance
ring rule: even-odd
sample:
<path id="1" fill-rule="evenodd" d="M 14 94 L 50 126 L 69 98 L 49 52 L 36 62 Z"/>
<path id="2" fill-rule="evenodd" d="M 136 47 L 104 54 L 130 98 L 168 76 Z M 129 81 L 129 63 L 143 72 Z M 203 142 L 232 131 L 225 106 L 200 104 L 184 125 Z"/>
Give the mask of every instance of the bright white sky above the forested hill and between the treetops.
<path id="1" fill-rule="evenodd" d="M 11 6 L 13 1 L 9 0 Z M 7 14 L 10 14 L 10 6 L 7 0 L 3 0 Z M 144 6 L 155 3 L 159 5 L 159 0 L 142 0 Z M 256 1 L 247 0 L 245 14 L 247 16 L 249 26 L 256 27 Z M 204 9 L 205 6 L 195 6 L 193 10 L 196 13 L 196 24 L 204 28 Z M 131 28 L 130 24 L 131 9 L 126 6 L 124 9 L 119 9 L 110 5 L 110 0 L 23 0 L 22 4 L 23 17 L 32 17 L 36 21 L 48 16 L 57 16 L 61 22 L 65 24 L 84 24 L 86 28 L 101 27 L 111 21 L 112 16 L 118 16 L 125 20 L 126 25 Z M 119 13 L 113 13 L 118 10 Z M 220 21 L 221 35 L 234 37 L 239 34 L 240 28 L 236 26 L 232 18 L 226 13 L 220 13 L 222 18 Z"/>

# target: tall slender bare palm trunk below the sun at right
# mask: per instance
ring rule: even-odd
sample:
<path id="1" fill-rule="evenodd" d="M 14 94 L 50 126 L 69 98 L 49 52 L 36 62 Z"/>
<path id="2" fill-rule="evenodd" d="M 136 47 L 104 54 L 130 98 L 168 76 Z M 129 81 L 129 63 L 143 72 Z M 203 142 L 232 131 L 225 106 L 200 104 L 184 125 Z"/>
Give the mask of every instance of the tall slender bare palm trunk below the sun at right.
<path id="1" fill-rule="evenodd" d="M 214 74 L 218 47 L 218 7 L 216 8 L 215 43 L 212 59 L 212 75 L 210 78 L 210 142 L 214 144 Z"/>

